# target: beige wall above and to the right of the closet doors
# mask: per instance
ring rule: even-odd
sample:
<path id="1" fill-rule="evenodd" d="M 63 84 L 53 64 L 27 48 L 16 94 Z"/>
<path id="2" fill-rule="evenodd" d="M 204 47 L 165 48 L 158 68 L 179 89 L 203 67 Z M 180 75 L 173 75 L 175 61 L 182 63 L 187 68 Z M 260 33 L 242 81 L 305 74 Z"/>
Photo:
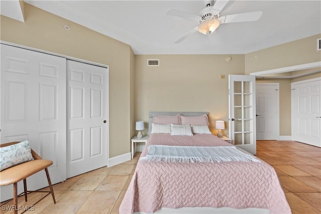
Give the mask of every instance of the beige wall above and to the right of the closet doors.
<path id="1" fill-rule="evenodd" d="M 64 30 L 64 25 L 71 30 Z M 130 151 L 134 58 L 130 46 L 29 4 L 25 23 L 1 16 L 1 40 L 108 65 L 109 157 Z"/>

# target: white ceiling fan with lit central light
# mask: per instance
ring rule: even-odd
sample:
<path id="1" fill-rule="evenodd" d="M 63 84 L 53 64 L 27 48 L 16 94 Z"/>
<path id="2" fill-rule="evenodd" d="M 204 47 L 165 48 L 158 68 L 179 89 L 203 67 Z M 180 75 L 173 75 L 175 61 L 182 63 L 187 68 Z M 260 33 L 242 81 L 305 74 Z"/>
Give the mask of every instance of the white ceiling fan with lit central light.
<path id="1" fill-rule="evenodd" d="M 166 13 L 166 15 L 168 16 L 181 17 L 187 20 L 198 22 L 198 27 L 193 28 L 182 37 L 177 39 L 174 43 L 180 43 L 196 32 L 210 35 L 220 26 L 220 24 L 257 21 L 263 14 L 263 11 L 256 11 L 243 14 L 232 14 L 221 17 L 220 13 L 228 2 L 229 1 L 226 0 L 205 1 L 206 8 L 204 8 L 199 13 L 199 15 L 175 9 L 168 10 L 168 12 Z"/>

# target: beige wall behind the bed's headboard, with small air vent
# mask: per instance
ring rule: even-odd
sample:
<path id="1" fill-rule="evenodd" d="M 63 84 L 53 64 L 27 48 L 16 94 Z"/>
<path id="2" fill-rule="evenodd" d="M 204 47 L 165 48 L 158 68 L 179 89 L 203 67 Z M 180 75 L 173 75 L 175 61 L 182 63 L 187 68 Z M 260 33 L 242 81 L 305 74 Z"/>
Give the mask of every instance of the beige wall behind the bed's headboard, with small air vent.
<path id="1" fill-rule="evenodd" d="M 159 59 L 159 67 L 147 59 Z M 228 75 L 244 74 L 244 55 L 136 55 L 135 74 L 137 120 L 148 125 L 149 111 L 206 111 L 212 133 L 224 120 L 228 134 Z"/>

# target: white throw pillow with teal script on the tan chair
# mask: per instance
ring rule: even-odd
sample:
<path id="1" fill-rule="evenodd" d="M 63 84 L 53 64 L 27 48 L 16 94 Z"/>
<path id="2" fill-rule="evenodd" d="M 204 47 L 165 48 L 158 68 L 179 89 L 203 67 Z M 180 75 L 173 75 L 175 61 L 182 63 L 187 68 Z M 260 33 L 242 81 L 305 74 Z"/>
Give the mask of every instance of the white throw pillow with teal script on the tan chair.
<path id="1" fill-rule="evenodd" d="M 1 147 L 0 157 L 0 171 L 19 163 L 34 160 L 28 140 Z"/>

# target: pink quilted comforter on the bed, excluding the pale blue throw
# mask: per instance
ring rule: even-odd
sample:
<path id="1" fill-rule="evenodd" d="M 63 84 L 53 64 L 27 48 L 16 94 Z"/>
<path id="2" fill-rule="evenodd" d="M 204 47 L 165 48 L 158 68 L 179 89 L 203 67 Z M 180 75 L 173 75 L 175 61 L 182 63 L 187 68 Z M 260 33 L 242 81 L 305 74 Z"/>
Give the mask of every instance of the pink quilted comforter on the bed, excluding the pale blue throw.
<path id="1" fill-rule="evenodd" d="M 151 144 L 233 146 L 212 134 L 151 134 Z M 139 159 L 119 213 L 155 212 L 161 207 L 265 208 L 291 213 L 272 166 L 260 162 L 162 162 Z"/>

